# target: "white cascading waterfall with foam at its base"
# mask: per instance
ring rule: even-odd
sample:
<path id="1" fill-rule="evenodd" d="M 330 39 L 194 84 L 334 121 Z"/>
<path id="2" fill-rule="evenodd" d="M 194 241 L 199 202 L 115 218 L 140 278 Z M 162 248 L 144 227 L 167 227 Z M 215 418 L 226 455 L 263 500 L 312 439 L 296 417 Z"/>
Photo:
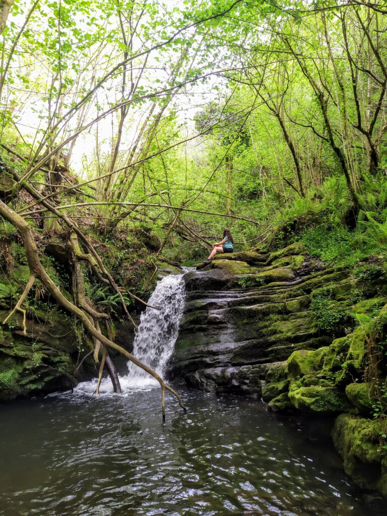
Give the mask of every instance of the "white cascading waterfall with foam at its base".
<path id="1" fill-rule="evenodd" d="M 186 269 L 188 270 L 188 269 Z M 186 272 L 183 269 L 184 272 Z M 133 355 L 145 365 L 151 367 L 162 378 L 172 356 L 176 338 L 178 338 L 180 319 L 183 314 L 185 288 L 183 275 L 169 275 L 160 280 L 150 297 L 147 307 L 140 317 Z M 128 362 L 128 373 L 120 376 L 122 393 L 137 389 L 152 389 L 158 386 L 157 380 L 133 362 Z M 73 395 L 90 395 L 95 391 L 97 379 L 79 383 Z M 104 378 L 100 386 L 100 394 L 113 394 L 113 386 L 109 378 Z"/>

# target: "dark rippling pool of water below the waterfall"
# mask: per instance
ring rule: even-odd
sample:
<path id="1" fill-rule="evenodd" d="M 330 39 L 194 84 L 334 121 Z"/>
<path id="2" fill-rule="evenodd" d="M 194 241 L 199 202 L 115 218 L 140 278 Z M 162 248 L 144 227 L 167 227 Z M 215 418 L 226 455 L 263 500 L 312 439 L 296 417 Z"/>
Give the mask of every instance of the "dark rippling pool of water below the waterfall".
<path id="1" fill-rule="evenodd" d="M 0 514 L 379 516 L 331 445 L 259 401 L 158 389 L 0 406 Z"/>

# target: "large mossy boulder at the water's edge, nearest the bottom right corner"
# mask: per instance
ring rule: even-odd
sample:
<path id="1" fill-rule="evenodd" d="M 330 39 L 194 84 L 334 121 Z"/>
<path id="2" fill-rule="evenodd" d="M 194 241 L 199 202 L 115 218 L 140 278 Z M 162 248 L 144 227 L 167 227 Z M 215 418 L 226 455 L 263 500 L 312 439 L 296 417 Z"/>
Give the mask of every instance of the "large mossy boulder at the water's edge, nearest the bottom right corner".
<path id="1" fill-rule="evenodd" d="M 385 430 L 385 421 L 380 419 L 341 414 L 336 418 L 332 438 L 353 481 L 387 498 L 387 453 L 380 445 Z"/>

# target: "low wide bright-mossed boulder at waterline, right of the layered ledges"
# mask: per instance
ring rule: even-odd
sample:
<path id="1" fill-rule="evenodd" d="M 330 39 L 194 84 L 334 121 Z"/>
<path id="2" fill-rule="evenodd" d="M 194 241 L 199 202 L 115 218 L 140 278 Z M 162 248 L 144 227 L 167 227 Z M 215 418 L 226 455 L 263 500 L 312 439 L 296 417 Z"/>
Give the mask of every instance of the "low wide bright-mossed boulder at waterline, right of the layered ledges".
<path id="1" fill-rule="evenodd" d="M 336 414 L 349 409 L 344 395 L 335 387 L 299 387 L 299 382 L 291 384 L 288 396 L 292 405 L 302 412 L 317 414 Z"/>

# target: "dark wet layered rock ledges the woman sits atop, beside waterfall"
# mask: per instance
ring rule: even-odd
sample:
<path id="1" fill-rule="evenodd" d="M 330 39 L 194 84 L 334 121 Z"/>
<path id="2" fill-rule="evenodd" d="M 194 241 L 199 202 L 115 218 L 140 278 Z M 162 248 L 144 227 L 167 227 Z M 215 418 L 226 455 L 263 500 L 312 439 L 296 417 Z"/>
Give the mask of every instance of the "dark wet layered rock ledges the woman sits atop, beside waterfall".
<path id="1" fill-rule="evenodd" d="M 267 364 L 285 361 L 294 350 L 330 344 L 332 337 L 315 325 L 307 294 L 310 282 L 320 285 L 325 278 L 307 273 L 304 255 L 296 254 L 301 250 L 293 245 L 288 254 L 232 253 L 188 272 L 173 374 L 201 389 L 261 396 L 257 373 L 252 380 L 246 367 L 259 366 L 261 381 Z M 283 392 L 283 380 L 277 379 L 272 393 Z M 266 394 L 269 400 L 268 388 Z"/>

